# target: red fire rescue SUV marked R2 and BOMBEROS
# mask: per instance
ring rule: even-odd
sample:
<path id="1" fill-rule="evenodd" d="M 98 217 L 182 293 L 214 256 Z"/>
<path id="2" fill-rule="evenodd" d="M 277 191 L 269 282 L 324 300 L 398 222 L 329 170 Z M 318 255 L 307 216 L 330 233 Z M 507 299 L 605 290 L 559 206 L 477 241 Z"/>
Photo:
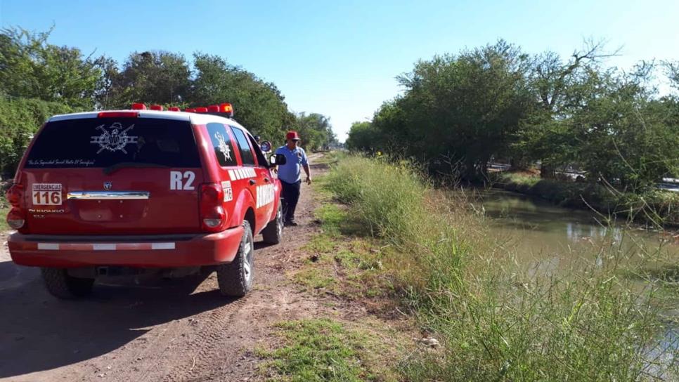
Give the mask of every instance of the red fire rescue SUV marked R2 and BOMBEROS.
<path id="1" fill-rule="evenodd" d="M 219 289 L 252 289 L 253 237 L 278 244 L 280 183 L 230 104 L 51 117 L 7 192 L 8 240 L 48 291 L 84 296 L 99 275 L 215 269 Z M 114 272 L 115 270 L 115 272 Z"/>

